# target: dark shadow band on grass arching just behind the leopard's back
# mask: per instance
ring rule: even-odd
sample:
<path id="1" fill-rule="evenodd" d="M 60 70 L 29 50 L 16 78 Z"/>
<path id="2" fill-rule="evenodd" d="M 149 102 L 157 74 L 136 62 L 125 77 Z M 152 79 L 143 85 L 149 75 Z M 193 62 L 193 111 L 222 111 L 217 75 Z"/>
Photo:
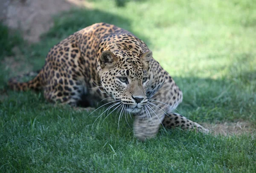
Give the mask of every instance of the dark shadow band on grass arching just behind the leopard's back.
<path id="1" fill-rule="evenodd" d="M 28 63 L 34 67 L 34 70 L 40 69 L 44 65 L 47 52 L 53 45 L 61 40 L 94 23 L 110 23 L 130 31 L 136 37 L 143 40 L 147 45 L 149 41 L 143 35 L 134 32 L 131 22 L 127 18 L 111 14 L 98 9 L 72 9 L 54 17 L 54 26 L 46 34 L 41 36 L 41 41 L 31 45 L 26 51 Z"/>

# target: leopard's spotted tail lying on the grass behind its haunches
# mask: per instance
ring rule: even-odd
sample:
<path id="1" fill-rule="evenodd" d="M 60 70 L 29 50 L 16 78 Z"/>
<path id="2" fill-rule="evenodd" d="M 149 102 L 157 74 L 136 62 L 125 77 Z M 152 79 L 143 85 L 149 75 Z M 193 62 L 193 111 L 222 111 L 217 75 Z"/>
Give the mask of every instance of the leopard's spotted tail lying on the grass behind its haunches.
<path id="1" fill-rule="evenodd" d="M 34 77 L 34 79 L 28 82 L 17 82 L 18 79 L 22 77 Z M 9 79 L 8 81 L 9 88 L 15 91 L 27 91 L 29 89 L 39 91 L 42 88 L 40 80 L 40 71 L 29 72 L 27 74 L 22 74 L 16 77 Z"/>

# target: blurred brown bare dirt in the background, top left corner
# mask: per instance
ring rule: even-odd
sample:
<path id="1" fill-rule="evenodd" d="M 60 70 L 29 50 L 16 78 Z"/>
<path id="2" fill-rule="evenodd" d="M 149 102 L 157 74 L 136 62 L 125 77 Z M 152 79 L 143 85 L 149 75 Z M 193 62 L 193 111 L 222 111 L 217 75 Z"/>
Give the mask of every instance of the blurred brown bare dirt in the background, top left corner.
<path id="1" fill-rule="evenodd" d="M 0 0 L 0 20 L 20 29 L 29 42 L 38 42 L 53 25 L 52 16 L 71 8 L 92 8 L 86 0 Z"/>

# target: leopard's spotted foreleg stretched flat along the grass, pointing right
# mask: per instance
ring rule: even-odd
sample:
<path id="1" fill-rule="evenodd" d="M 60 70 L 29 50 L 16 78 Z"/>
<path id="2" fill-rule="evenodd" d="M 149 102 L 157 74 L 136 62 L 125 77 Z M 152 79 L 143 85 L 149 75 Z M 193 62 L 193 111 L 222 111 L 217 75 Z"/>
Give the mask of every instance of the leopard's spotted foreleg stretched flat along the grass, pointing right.
<path id="1" fill-rule="evenodd" d="M 200 131 L 203 133 L 209 133 L 209 130 L 206 128 L 202 127 L 196 122 L 193 122 L 186 117 L 178 114 L 178 113 L 166 113 L 163 122 L 163 126 L 165 128 L 175 128 L 175 127 L 180 127 L 181 129 L 184 130 L 196 130 Z"/>

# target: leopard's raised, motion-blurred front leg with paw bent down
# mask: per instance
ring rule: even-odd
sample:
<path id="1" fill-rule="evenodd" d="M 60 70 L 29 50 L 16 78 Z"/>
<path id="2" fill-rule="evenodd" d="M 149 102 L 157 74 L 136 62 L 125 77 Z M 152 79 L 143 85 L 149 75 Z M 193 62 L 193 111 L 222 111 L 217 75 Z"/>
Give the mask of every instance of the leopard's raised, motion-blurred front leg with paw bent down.
<path id="1" fill-rule="evenodd" d="M 165 112 L 173 110 L 182 101 L 182 92 L 174 81 L 166 81 L 143 108 L 141 116 L 134 120 L 134 136 L 144 141 L 155 136 L 165 117 Z"/>

